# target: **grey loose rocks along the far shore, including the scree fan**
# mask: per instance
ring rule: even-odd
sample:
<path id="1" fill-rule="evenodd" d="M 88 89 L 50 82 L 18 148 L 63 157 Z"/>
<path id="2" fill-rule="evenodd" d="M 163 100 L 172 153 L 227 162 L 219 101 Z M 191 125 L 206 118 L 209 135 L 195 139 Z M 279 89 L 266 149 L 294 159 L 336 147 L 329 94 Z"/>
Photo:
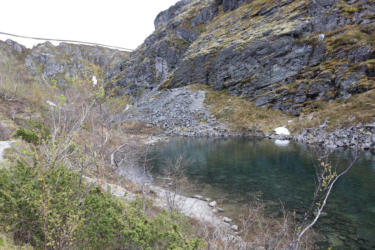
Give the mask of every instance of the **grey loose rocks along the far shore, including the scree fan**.
<path id="1" fill-rule="evenodd" d="M 368 150 L 375 145 L 375 120 L 348 128 L 327 131 L 327 122 L 318 128 L 306 128 L 299 134 L 233 132 L 230 124 L 218 121 L 205 106 L 205 91 L 193 91 L 189 86 L 147 93 L 134 105 L 116 117 L 117 121 L 145 121 L 145 127 L 160 129 L 160 135 L 148 138 L 149 143 L 163 140 L 165 136 L 220 136 L 264 137 L 288 139 L 323 147 L 347 147 Z M 300 117 L 302 119 L 304 117 Z M 152 142 L 151 142 L 152 141 Z"/>

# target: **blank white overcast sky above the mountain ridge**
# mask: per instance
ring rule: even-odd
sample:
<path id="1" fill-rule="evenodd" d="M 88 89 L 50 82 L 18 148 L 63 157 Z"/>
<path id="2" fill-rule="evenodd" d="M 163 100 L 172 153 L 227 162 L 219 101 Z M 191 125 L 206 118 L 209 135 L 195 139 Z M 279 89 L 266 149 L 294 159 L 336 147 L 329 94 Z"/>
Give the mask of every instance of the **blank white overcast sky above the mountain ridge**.
<path id="1" fill-rule="evenodd" d="M 0 31 L 135 49 L 154 30 L 156 15 L 178 0 L 2 1 Z M 0 34 L 27 48 L 44 42 Z M 53 42 L 57 45 L 60 42 Z"/>

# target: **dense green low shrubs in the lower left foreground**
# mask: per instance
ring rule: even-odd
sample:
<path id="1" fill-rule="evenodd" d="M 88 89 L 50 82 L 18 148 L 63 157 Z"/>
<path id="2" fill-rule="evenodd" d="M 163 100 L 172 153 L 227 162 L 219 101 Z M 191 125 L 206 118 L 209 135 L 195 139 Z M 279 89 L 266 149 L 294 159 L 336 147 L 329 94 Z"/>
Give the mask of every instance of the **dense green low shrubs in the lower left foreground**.
<path id="1" fill-rule="evenodd" d="M 201 249 L 200 239 L 185 235 L 181 214 L 163 211 L 150 219 L 139 209 L 141 199 L 127 203 L 100 187 L 80 202 L 85 190 L 80 178 L 59 164 L 18 160 L 0 169 L 0 226 L 19 230 L 15 239 L 36 249 L 45 244 L 51 249 L 60 249 L 58 244 L 69 249 Z"/>

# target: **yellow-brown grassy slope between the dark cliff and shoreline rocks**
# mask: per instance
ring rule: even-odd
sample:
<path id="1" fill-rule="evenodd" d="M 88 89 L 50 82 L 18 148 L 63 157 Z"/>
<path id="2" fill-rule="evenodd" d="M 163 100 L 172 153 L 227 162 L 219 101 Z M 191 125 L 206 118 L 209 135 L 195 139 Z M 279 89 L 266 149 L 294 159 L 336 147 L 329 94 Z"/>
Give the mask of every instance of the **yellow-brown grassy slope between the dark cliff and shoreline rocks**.
<path id="1" fill-rule="evenodd" d="M 232 124 L 233 129 L 244 129 L 254 127 L 263 133 L 270 133 L 279 126 L 286 127 L 294 133 L 299 133 L 302 128 L 319 126 L 318 119 L 323 123 L 328 121 L 330 129 L 349 127 L 358 123 L 368 123 L 374 120 L 375 115 L 375 90 L 370 90 L 362 94 L 355 94 L 345 101 L 337 99 L 333 102 L 326 102 L 323 99 L 306 106 L 300 117 L 311 117 L 311 120 L 294 117 L 290 114 L 282 114 L 281 111 L 258 108 L 253 102 L 246 100 L 245 96 L 229 96 L 227 90 L 214 91 L 206 85 L 190 85 L 193 90 L 205 90 L 206 106 L 211 106 L 209 110 L 218 120 Z M 231 102 L 228 100 L 231 99 Z M 225 108 L 227 107 L 227 108 Z M 220 114 L 218 112 L 221 110 Z M 233 111 L 231 111 L 233 110 Z M 227 121 L 227 119 L 229 119 Z M 293 122 L 288 123 L 288 120 Z"/>

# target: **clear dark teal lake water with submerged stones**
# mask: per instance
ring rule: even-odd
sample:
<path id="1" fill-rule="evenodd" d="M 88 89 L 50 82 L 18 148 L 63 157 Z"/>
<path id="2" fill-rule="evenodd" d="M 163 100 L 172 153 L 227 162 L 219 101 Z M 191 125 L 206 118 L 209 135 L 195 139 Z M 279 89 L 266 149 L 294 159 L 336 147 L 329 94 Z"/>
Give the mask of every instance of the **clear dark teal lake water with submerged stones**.
<path id="1" fill-rule="evenodd" d="M 222 201 L 229 215 L 239 212 L 254 193 L 262 192 L 266 213 L 278 213 L 281 203 L 302 217 L 311 204 L 315 169 L 306 147 L 293 141 L 244 138 L 174 137 L 151 148 L 154 171 L 160 172 L 163 157 L 185 153 L 194 163 L 185 171 L 197 179 L 205 195 Z M 308 147 L 308 150 L 312 148 Z M 348 166 L 355 151 L 335 149 L 333 165 Z M 343 175 L 332 189 L 315 230 L 327 241 L 321 249 L 375 249 L 375 154 L 367 153 Z"/>

